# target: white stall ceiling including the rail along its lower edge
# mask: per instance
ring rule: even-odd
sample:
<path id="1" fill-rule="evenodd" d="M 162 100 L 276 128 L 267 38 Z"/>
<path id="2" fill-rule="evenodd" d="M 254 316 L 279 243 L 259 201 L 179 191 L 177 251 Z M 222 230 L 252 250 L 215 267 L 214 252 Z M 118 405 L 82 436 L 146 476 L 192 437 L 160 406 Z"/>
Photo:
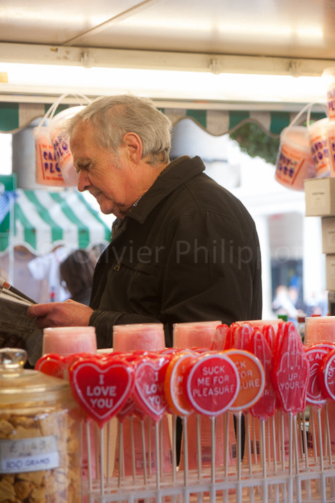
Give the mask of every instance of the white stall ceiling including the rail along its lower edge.
<path id="1" fill-rule="evenodd" d="M 334 0 L 0 0 L 0 62 L 319 76 L 334 26 Z"/>

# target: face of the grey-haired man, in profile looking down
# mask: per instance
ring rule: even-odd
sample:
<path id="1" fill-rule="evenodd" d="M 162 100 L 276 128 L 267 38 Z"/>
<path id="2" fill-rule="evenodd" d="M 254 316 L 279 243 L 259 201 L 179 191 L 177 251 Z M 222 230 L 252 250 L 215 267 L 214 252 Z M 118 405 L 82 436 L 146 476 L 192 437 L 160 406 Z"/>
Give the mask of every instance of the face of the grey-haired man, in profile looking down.
<path id="1" fill-rule="evenodd" d="M 88 121 L 74 127 L 70 149 L 79 172 L 78 190 L 94 195 L 102 213 L 123 218 L 140 197 L 126 147 L 121 145 L 117 155 L 101 150 L 95 142 L 94 126 Z"/>

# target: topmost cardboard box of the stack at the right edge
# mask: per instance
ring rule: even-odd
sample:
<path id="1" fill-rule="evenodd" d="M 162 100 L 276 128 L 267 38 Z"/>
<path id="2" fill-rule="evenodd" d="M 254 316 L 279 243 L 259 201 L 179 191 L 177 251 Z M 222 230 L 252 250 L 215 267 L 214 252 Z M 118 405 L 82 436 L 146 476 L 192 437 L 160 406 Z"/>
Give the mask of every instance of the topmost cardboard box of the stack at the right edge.
<path id="1" fill-rule="evenodd" d="M 304 180 L 306 216 L 335 216 L 335 177 Z"/>

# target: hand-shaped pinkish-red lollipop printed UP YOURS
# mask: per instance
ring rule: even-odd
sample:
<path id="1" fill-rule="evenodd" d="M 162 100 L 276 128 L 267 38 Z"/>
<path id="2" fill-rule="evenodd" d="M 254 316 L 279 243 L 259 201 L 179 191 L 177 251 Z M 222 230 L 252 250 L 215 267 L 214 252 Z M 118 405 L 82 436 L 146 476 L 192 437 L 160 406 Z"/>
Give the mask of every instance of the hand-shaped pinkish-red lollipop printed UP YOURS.
<path id="1" fill-rule="evenodd" d="M 309 362 L 300 334 L 293 323 L 286 323 L 277 344 L 272 382 L 281 407 L 296 414 L 306 408 Z"/>

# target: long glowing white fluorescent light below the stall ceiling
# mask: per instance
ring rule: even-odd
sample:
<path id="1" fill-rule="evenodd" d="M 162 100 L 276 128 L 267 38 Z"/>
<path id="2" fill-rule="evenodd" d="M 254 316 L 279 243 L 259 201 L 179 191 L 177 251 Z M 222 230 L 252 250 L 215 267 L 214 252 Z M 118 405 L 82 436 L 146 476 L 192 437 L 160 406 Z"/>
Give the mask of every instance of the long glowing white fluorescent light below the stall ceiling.
<path id="1" fill-rule="evenodd" d="M 325 103 L 322 77 L 133 70 L 108 67 L 0 63 L 0 93 L 115 95 L 134 93 L 153 99 L 231 102 Z"/>

